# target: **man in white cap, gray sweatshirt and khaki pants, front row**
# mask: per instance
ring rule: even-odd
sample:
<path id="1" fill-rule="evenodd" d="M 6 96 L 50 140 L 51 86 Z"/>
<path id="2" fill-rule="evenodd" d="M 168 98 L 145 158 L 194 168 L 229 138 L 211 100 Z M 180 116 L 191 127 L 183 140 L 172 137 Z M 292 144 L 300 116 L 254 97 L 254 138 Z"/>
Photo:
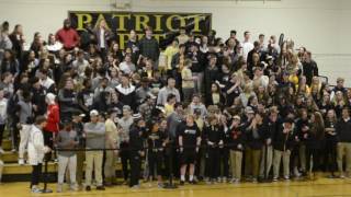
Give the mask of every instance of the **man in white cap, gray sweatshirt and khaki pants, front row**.
<path id="1" fill-rule="evenodd" d="M 90 111 L 90 123 L 84 124 L 84 132 L 88 149 L 86 152 L 86 190 L 91 190 L 92 171 L 94 167 L 94 175 L 97 181 L 97 189 L 104 190 L 102 183 L 102 150 L 89 149 L 104 149 L 105 148 L 105 124 L 99 121 L 99 112 L 95 109 Z"/>

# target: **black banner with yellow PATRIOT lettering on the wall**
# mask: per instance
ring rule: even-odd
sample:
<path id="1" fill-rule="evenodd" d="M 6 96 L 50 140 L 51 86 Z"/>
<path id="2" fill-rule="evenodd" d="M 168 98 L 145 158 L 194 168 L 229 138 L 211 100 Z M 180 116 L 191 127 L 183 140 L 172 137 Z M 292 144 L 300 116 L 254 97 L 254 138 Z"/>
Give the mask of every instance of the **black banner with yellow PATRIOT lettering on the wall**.
<path id="1" fill-rule="evenodd" d="M 144 35 L 144 28 L 150 26 L 160 47 L 168 45 L 178 35 L 179 27 L 188 32 L 204 35 L 211 31 L 211 13 L 168 13 L 168 12 L 90 12 L 69 11 L 68 15 L 77 31 L 84 31 L 84 24 L 93 27 L 100 20 L 105 20 L 107 27 L 116 35 L 121 48 L 128 40 L 131 30 L 135 30 L 138 38 Z"/>

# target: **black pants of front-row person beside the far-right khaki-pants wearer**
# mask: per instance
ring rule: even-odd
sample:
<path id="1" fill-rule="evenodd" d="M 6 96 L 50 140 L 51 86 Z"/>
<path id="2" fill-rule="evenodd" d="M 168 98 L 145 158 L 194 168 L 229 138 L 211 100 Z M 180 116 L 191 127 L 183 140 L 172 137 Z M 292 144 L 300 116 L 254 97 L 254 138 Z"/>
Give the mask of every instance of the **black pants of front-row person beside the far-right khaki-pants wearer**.
<path id="1" fill-rule="evenodd" d="M 337 140 L 327 139 L 324 152 L 325 170 L 333 174 L 337 171 Z"/>

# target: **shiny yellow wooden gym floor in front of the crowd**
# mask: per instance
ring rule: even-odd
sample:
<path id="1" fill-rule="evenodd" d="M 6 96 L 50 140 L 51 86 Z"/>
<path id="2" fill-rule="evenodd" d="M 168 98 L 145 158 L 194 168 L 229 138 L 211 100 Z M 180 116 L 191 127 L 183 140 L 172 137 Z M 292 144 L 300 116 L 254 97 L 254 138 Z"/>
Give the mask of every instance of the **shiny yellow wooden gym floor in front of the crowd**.
<path id="1" fill-rule="evenodd" d="M 185 185 L 177 189 L 159 189 L 154 183 L 143 184 L 139 189 L 131 189 L 127 186 L 107 187 L 104 192 L 68 192 L 55 193 L 56 185 L 49 184 L 54 189 L 52 194 L 31 194 L 29 183 L 3 183 L 0 185 L 1 197 L 25 196 L 93 196 L 93 197 L 351 197 L 351 179 L 319 178 L 315 182 L 276 182 L 268 184 L 216 184 L 216 185 Z"/>

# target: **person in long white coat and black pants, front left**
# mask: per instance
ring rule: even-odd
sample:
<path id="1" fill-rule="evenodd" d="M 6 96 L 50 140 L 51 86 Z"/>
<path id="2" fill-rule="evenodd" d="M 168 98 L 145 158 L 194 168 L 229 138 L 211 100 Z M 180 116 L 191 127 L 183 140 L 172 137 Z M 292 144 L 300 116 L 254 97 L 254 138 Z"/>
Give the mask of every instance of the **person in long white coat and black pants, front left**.
<path id="1" fill-rule="evenodd" d="M 38 116 L 35 118 L 35 125 L 29 130 L 29 164 L 32 165 L 31 190 L 32 193 L 42 193 L 39 189 L 39 179 L 42 176 L 42 166 L 45 153 L 50 152 L 50 148 L 44 146 L 43 129 L 46 126 L 46 118 Z"/>

